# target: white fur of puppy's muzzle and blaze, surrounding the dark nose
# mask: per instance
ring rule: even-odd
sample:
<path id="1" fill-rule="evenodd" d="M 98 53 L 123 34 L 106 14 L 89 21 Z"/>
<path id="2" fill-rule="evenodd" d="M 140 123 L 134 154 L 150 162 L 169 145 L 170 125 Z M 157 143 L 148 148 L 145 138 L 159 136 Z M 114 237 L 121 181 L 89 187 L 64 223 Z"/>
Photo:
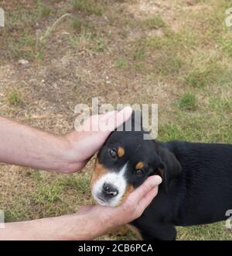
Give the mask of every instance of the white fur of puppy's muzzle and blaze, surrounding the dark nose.
<path id="1" fill-rule="evenodd" d="M 103 206 L 117 206 L 118 203 L 120 202 L 122 196 L 125 193 L 126 187 L 127 187 L 127 182 L 125 180 L 125 171 L 127 168 L 126 163 L 123 168 L 121 168 L 120 171 L 118 172 L 110 172 L 107 173 L 106 175 L 102 175 L 99 180 L 94 184 L 93 189 L 92 189 L 92 194 L 94 196 L 94 199 L 99 202 Z M 108 183 L 114 186 L 115 189 L 118 189 L 118 195 L 111 199 L 107 199 L 106 202 L 101 201 L 101 199 L 98 198 L 97 195 L 101 195 L 103 185 L 104 183 Z"/>

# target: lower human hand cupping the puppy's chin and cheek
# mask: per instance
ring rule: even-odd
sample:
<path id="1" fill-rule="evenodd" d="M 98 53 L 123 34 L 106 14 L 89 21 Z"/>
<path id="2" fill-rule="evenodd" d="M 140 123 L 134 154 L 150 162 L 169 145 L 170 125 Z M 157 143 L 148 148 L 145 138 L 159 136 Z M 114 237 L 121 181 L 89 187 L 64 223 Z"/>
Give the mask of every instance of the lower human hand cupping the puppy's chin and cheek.
<path id="1" fill-rule="evenodd" d="M 69 238 L 74 240 L 80 238 L 84 240 L 94 239 L 94 237 L 107 234 L 111 230 L 137 219 L 157 195 L 158 185 L 161 182 L 162 179 L 158 175 L 147 178 L 121 206 L 115 208 L 100 205 L 84 206 L 77 212 L 77 216 L 83 216 L 85 219 L 84 237 L 78 237 L 74 232 L 73 237 Z M 80 231 L 78 223 L 74 226 Z"/>

